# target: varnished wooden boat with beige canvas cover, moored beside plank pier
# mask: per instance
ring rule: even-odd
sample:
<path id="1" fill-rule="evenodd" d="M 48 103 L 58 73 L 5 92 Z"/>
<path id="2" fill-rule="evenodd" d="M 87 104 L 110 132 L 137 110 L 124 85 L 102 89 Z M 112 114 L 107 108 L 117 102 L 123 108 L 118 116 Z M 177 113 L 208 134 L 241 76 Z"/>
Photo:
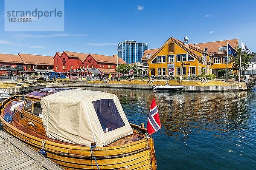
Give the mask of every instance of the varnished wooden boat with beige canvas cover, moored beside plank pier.
<path id="1" fill-rule="evenodd" d="M 74 102 L 73 99 L 77 100 L 77 102 Z M 116 127 L 116 129 L 114 129 L 114 127 L 113 129 L 111 129 L 111 127 L 104 127 L 105 129 L 103 129 L 103 125 L 98 127 L 96 124 L 102 123 L 102 121 L 99 121 L 99 119 L 102 118 L 97 117 L 98 114 L 95 113 L 89 114 L 90 109 L 88 108 L 81 108 L 81 106 L 85 105 L 84 103 L 90 104 L 90 101 L 93 100 L 93 104 L 88 107 L 99 109 L 102 105 L 99 106 L 99 102 L 94 102 L 101 101 L 101 99 L 108 99 L 108 107 L 114 103 L 113 107 L 111 106 L 112 108 L 110 108 L 112 111 L 113 108 L 117 109 L 125 124 L 124 126 Z M 60 100 L 61 102 L 59 102 Z M 20 102 L 24 104 L 21 105 L 19 104 Z M 11 111 L 12 105 L 15 105 L 13 112 Z M 20 106 L 17 107 L 17 105 Z M 69 132 L 64 132 L 64 135 L 61 136 L 62 134 L 58 132 L 62 133 L 63 129 L 61 128 L 64 128 L 65 125 L 63 125 L 61 120 L 57 119 L 55 120 L 56 124 L 52 124 L 52 119 L 55 119 L 52 115 L 55 114 L 55 111 L 60 113 L 58 119 L 66 119 L 66 124 L 69 124 L 68 121 L 72 122 L 76 120 L 77 114 L 76 110 L 74 110 L 74 108 L 76 109 L 76 105 L 79 105 L 79 113 L 84 113 L 85 110 L 87 111 L 84 115 L 87 115 L 90 121 L 93 121 L 94 118 L 98 120 L 96 123 L 91 122 L 91 125 L 96 125 L 96 127 L 79 124 L 79 126 L 82 125 L 81 128 L 79 127 L 79 130 L 84 130 L 84 134 L 89 131 L 86 136 L 83 136 L 82 133 L 79 134 L 80 136 L 77 136 L 79 143 L 76 139 L 76 142 L 67 142 L 70 136 L 70 139 L 74 136 L 76 137 L 76 134 L 73 134 L 76 133 L 75 128 L 71 129 Z M 45 111 L 47 113 L 45 113 Z M 65 112 L 63 113 L 63 111 Z M 103 111 L 103 109 L 100 111 Z M 96 112 L 98 113 L 99 111 Z M 114 94 L 87 90 L 45 88 L 26 94 L 25 96 L 12 96 L 4 100 L 3 105 L 1 105 L 1 120 L 3 120 L 3 117 L 6 116 L 7 113 L 10 115 L 13 114 L 13 120 L 10 123 L 1 121 L 4 131 L 25 142 L 35 150 L 43 148 L 47 152 L 47 157 L 61 165 L 64 169 L 98 169 L 97 164 L 100 170 L 156 170 L 157 168 L 153 139 L 145 135 L 146 129 L 143 125 L 129 124 L 126 116 L 123 117 L 122 106 Z M 70 113 L 72 113 L 71 117 L 74 116 L 73 120 L 69 119 Z M 105 113 L 111 114 L 110 112 Z M 84 115 L 80 115 L 78 118 L 79 121 L 86 121 L 86 119 L 88 119 L 88 117 L 80 119 Z M 117 117 L 120 118 L 120 116 Z M 92 117 L 94 118 L 91 119 Z M 46 120 L 49 125 L 45 125 Z M 111 120 L 110 118 L 110 122 Z M 58 122 L 61 124 L 58 124 Z M 59 129 L 52 128 L 55 125 L 58 125 Z M 128 131 L 131 129 L 132 131 L 120 137 L 118 133 L 122 128 L 128 129 Z M 97 129 L 101 130 L 100 134 L 104 133 L 103 136 L 107 135 L 107 138 L 108 133 L 110 134 L 109 136 L 112 134 L 109 138 L 111 140 L 106 139 L 106 143 L 104 144 L 104 140 L 102 142 L 104 137 L 97 136 Z M 95 137 L 93 138 L 95 140 L 91 139 L 91 130 L 95 130 Z M 113 136 L 115 133 L 117 137 Z M 59 139 L 57 139 L 56 136 Z M 87 139 L 89 140 L 87 141 Z M 87 144 L 87 142 L 91 143 Z M 96 145 L 96 147 L 91 147 L 90 145 Z"/>

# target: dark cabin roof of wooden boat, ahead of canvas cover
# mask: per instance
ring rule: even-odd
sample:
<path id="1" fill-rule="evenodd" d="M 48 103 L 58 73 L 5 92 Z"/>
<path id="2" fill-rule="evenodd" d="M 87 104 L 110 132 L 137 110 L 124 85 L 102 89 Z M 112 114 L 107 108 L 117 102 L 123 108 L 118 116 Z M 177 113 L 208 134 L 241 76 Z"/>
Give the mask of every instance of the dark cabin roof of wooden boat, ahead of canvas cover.
<path id="1" fill-rule="evenodd" d="M 25 97 L 29 99 L 38 99 L 40 100 L 42 97 L 48 96 L 50 94 L 54 94 L 60 91 L 68 90 L 69 88 L 43 88 L 37 91 L 33 91 L 29 94 L 26 94 Z"/>

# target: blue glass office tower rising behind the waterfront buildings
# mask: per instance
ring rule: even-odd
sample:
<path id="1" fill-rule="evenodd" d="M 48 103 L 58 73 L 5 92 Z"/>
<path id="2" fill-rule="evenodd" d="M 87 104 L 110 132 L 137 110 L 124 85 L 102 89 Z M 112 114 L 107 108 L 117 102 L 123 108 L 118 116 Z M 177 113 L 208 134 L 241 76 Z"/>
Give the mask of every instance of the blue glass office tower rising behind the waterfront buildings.
<path id="1" fill-rule="evenodd" d="M 136 41 L 120 42 L 117 45 L 118 57 L 121 57 L 128 64 L 141 62 L 143 52 L 148 49 L 147 43 Z"/>

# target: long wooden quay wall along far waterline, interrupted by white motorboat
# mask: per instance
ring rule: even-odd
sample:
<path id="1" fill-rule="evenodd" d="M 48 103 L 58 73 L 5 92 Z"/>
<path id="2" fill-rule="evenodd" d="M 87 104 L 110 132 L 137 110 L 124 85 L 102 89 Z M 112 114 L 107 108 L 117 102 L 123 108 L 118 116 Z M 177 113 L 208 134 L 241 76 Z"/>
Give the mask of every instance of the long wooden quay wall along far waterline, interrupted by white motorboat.
<path id="1" fill-rule="evenodd" d="M 31 85 L 26 87 L 5 88 L 9 94 L 24 94 L 35 91 L 41 88 L 74 88 L 74 87 L 99 87 L 99 88 L 128 88 L 128 89 L 145 89 L 152 90 L 153 85 L 137 85 L 137 84 L 108 84 L 108 83 L 86 83 L 86 82 L 71 82 L 71 83 L 49 83 L 46 85 Z M 186 85 L 183 91 L 191 92 L 208 92 L 208 91 L 246 91 L 247 85 Z"/>

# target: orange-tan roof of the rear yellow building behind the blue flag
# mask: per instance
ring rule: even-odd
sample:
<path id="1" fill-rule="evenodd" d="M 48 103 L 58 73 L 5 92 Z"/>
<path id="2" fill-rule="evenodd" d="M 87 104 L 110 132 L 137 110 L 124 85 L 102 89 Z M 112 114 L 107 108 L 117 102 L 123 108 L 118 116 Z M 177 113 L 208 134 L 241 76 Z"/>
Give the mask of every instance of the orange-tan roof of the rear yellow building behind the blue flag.
<path id="1" fill-rule="evenodd" d="M 195 45 L 200 47 L 201 50 L 204 50 L 205 48 L 208 48 L 207 53 L 209 53 L 209 54 L 216 54 L 216 53 L 225 53 L 225 52 L 227 52 L 227 50 L 218 51 L 219 47 L 227 46 L 227 42 L 233 48 L 236 48 L 236 46 L 238 46 L 238 39 L 222 40 L 222 41 L 214 41 L 214 42 L 204 42 L 204 43 L 198 43 L 198 44 L 195 44 Z"/>

